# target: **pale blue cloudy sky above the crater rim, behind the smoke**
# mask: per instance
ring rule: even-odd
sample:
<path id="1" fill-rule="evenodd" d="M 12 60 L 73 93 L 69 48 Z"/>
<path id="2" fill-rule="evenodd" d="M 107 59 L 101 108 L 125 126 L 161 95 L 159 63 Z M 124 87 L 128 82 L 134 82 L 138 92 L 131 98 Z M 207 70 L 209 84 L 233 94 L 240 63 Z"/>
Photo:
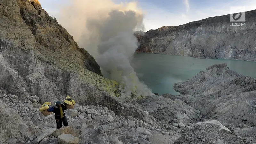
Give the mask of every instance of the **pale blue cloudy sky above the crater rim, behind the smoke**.
<path id="1" fill-rule="evenodd" d="M 39 0 L 43 9 L 58 20 L 61 6 L 72 0 Z M 76 0 L 74 0 L 76 1 Z M 134 0 L 112 0 L 116 4 Z M 178 26 L 208 17 L 234 13 L 233 7 L 245 11 L 256 9 L 256 0 L 135 0 L 144 13 L 144 31 L 162 26 Z M 233 9 L 232 9 L 233 8 Z M 60 23 L 61 24 L 61 23 Z"/>

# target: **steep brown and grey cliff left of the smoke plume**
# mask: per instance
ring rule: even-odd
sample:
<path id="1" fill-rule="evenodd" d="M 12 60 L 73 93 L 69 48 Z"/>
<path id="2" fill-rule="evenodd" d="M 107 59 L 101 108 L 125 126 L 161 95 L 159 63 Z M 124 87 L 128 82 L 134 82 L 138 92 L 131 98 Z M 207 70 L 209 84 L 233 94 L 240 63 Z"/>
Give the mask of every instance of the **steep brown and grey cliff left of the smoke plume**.
<path id="1" fill-rule="evenodd" d="M 0 87 L 8 92 L 42 102 L 70 95 L 97 103 L 116 95 L 118 83 L 102 77 L 94 58 L 37 0 L 0 1 L 0 25 Z"/>

